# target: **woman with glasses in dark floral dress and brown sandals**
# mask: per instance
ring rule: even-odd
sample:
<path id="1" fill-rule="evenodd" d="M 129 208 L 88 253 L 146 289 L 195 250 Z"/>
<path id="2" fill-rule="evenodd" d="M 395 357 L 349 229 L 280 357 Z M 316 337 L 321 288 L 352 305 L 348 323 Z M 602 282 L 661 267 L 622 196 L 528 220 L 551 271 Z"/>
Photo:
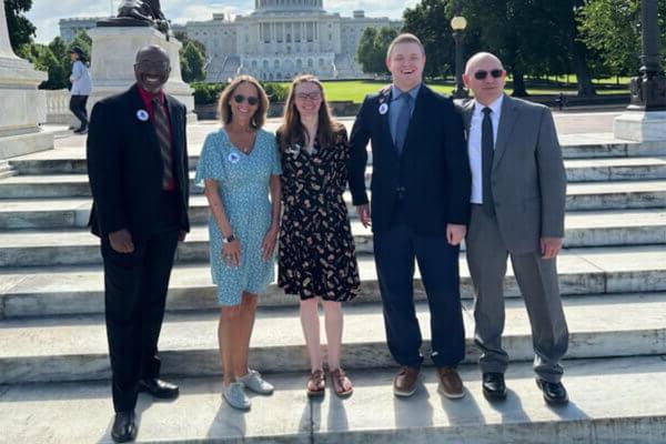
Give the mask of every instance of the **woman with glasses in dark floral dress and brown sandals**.
<path id="1" fill-rule="evenodd" d="M 284 206 L 279 284 L 285 293 L 301 297 L 301 324 L 312 367 L 307 394 L 323 395 L 325 390 L 317 306 L 321 300 L 331 382 L 339 396 L 350 395 L 352 383 L 340 366 L 341 302 L 356 296 L 360 280 L 342 196 L 349 143 L 344 127 L 332 119 L 315 77 L 294 79 L 276 135 Z"/>

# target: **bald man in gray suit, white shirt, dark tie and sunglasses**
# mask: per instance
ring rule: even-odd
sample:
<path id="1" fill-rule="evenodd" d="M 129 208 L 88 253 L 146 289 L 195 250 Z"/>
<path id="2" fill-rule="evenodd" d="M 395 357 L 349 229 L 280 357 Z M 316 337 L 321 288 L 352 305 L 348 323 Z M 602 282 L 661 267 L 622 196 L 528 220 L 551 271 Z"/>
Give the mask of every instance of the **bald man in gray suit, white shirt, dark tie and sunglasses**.
<path id="1" fill-rule="evenodd" d="M 473 178 L 466 245 L 483 393 L 488 400 L 506 397 L 503 281 L 511 256 L 532 325 L 536 383 L 547 403 L 564 404 L 559 361 L 568 331 L 556 256 L 564 238 L 566 175 L 553 115 L 546 107 L 506 95 L 506 71 L 491 53 L 473 56 L 464 80 L 474 92 L 463 107 Z"/>

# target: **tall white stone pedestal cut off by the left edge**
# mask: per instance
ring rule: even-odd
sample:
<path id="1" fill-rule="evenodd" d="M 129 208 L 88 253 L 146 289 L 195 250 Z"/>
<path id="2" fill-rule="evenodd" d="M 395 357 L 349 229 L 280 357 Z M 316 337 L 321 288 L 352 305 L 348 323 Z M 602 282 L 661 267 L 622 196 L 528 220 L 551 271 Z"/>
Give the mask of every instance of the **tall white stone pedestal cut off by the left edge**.
<path id="1" fill-rule="evenodd" d="M 47 121 L 47 97 L 37 87 L 46 79 L 46 72 L 36 71 L 11 50 L 0 8 L 0 159 L 53 148 L 53 135 L 39 128 Z"/>

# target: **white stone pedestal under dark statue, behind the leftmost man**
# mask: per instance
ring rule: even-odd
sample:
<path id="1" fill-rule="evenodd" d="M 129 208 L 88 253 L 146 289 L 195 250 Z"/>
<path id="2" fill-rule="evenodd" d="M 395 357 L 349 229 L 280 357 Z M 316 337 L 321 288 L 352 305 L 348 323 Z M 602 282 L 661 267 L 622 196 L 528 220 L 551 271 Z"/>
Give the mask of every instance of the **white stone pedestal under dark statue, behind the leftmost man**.
<path id="1" fill-rule="evenodd" d="M 167 38 L 152 27 L 103 27 L 88 31 L 92 39 L 92 94 L 88 109 L 100 99 L 117 94 L 130 88 L 134 78 L 137 51 L 149 44 L 162 47 L 171 60 L 171 75 L 164 91 L 174 95 L 188 108 L 188 121 L 196 120 L 194 114 L 194 92 L 183 82 L 180 71 L 179 50 L 181 42 Z"/>

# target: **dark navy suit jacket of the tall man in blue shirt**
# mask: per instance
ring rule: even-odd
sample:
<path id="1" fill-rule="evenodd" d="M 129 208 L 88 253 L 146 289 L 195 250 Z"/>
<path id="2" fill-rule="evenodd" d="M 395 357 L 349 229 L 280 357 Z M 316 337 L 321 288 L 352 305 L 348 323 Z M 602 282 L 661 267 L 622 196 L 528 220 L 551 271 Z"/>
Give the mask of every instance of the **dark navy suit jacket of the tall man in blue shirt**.
<path id="1" fill-rule="evenodd" d="M 391 89 L 367 95 L 350 138 L 350 189 L 354 205 L 367 203 L 365 192 L 366 145 L 372 141 L 373 231 L 391 226 L 403 188 L 407 225 L 420 235 L 443 235 L 446 224 L 467 224 L 472 188 L 467 148 L 461 114 L 453 101 L 422 85 L 402 155 L 393 144 L 389 112 Z"/>

